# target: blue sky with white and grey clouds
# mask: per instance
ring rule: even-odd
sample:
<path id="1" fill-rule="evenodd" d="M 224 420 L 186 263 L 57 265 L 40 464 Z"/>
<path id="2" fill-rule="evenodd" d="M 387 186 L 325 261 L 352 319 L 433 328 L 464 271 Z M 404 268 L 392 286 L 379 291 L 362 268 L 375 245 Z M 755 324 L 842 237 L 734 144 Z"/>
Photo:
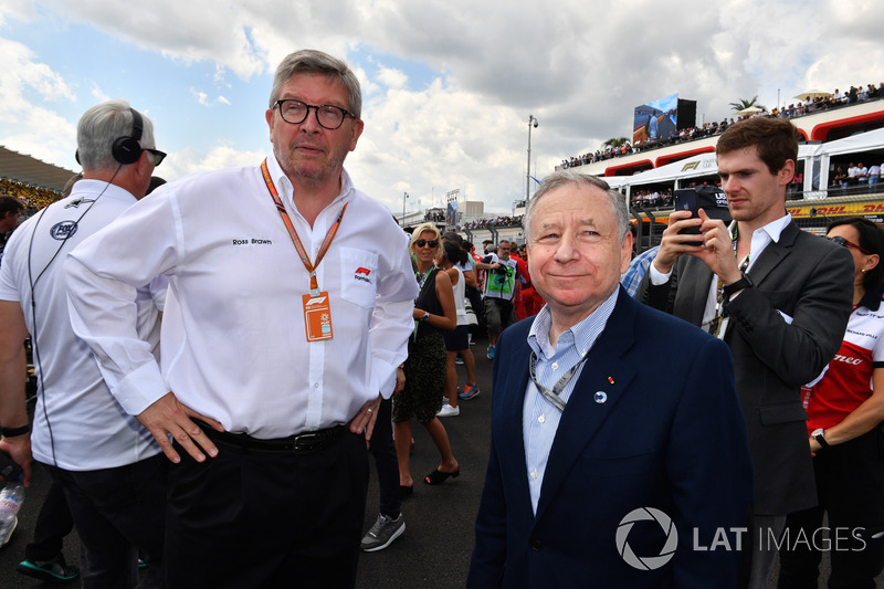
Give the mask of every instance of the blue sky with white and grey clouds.
<path id="1" fill-rule="evenodd" d="M 677 93 L 697 118 L 759 96 L 884 80 L 871 0 L 0 0 L 0 145 L 77 170 L 76 122 L 126 98 L 169 152 L 158 170 L 255 164 L 278 61 L 345 59 L 366 130 L 346 167 L 401 213 L 460 189 L 504 213 L 532 175 L 629 136 L 636 105 Z M 685 31 L 690 30 L 690 33 Z"/>

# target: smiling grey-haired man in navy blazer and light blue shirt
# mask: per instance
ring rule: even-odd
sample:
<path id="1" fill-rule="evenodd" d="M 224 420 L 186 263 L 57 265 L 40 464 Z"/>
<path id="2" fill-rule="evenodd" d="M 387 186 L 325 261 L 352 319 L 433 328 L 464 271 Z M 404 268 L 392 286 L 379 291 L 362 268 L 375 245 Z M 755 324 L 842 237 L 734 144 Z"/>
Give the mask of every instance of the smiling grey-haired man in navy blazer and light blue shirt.
<path id="1" fill-rule="evenodd" d="M 736 586 L 751 465 L 730 355 L 620 288 L 628 227 L 573 171 L 528 204 L 547 306 L 498 339 L 469 587 Z"/>

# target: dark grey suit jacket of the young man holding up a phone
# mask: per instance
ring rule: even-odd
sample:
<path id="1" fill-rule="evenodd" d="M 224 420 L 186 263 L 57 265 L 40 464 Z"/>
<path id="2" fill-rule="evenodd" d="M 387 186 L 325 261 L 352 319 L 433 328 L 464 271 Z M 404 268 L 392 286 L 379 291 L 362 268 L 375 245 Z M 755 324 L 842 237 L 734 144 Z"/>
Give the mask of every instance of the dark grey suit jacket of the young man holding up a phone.
<path id="1" fill-rule="evenodd" d="M 734 355 L 753 452 L 754 511 L 788 514 L 817 504 L 800 388 L 819 376 L 844 338 L 853 260 L 845 248 L 792 222 L 748 275 L 755 287 L 725 304 L 730 316 L 725 343 Z M 649 273 L 636 298 L 701 325 L 712 276 L 702 261 L 683 255 L 666 284 L 652 286 Z"/>

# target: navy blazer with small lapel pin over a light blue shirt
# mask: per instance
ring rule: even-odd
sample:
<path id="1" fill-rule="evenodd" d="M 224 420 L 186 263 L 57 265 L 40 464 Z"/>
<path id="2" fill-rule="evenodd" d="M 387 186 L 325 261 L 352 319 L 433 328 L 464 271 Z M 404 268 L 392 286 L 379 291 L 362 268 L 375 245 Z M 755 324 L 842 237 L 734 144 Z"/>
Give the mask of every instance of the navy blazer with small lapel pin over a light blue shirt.
<path id="1" fill-rule="evenodd" d="M 716 528 L 743 526 L 751 501 L 726 346 L 621 288 L 561 416 L 535 516 L 522 432 L 533 320 L 497 340 L 491 459 L 467 586 L 736 587 L 737 553 L 693 549 L 711 546 Z M 629 532 L 633 554 L 661 554 L 661 524 L 621 527 L 642 507 L 664 512 L 677 530 L 672 559 L 654 570 L 628 565 L 617 541 L 618 529 Z"/>

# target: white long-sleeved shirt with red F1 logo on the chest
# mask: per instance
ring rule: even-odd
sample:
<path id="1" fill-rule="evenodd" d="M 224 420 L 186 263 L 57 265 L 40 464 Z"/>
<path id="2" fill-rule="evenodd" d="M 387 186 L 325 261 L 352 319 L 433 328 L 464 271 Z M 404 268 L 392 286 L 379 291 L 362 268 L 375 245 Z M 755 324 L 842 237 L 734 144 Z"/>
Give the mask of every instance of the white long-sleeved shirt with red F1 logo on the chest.
<path id="1" fill-rule="evenodd" d="M 66 262 L 74 329 L 129 413 L 171 390 L 227 431 L 273 439 L 346 423 L 392 393 L 418 294 L 407 235 L 346 171 L 311 228 L 274 156 L 267 166 L 312 261 L 347 203 L 316 269 L 333 339 L 306 340 L 309 277 L 260 165 L 165 185 Z M 158 274 L 169 277 L 161 367 L 135 345 L 126 302 Z"/>

